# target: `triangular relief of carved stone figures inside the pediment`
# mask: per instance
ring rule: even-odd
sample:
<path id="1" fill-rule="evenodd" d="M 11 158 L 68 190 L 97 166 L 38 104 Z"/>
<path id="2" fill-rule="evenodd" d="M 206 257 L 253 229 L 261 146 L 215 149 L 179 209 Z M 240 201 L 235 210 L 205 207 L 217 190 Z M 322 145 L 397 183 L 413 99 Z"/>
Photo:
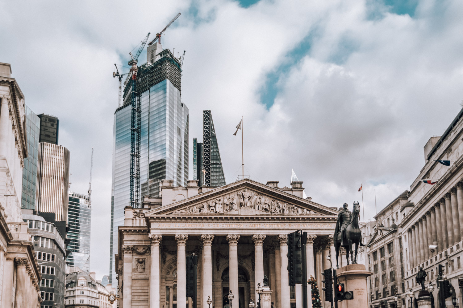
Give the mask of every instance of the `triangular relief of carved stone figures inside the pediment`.
<path id="1" fill-rule="evenodd" d="M 260 193 L 248 190 L 247 188 L 206 200 L 200 204 L 178 209 L 174 211 L 173 214 L 238 214 L 240 211 L 246 214 L 249 214 L 250 211 L 263 214 L 315 214 L 313 211 L 308 211 L 296 205 L 264 196 Z"/>

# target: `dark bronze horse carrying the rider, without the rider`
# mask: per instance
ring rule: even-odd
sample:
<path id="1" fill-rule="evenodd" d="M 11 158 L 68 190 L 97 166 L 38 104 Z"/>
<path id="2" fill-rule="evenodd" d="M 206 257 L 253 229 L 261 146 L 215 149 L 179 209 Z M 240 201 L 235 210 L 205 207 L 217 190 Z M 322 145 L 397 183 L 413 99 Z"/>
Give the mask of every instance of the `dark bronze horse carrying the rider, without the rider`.
<path id="1" fill-rule="evenodd" d="M 350 252 L 350 260 L 352 264 L 357 264 L 357 251 L 358 245 L 363 246 L 362 244 L 362 232 L 358 227 L 358 218 L 360 213 L 360 205 L 358 201 L 354 202 L 354 209 L 352 212 L 352 216 L 350 217 L 350 221 L 346 226 L 345 229 L 345 236 L 346 241 L 349 244 L 349 249 L 346 249 L 346 260 L 347 265 L 349 265 L 349 252 Z M 342 238 L 334 239 L 334 248 L 336 250 L 336 267 L 339 268 L 338 263 L 338 256 L 339 256 L 339 248 L 343 242 Z M 352 245 L 355 244 L 355 257 L 354 257 L 354 250 L 352 249 Z"/>

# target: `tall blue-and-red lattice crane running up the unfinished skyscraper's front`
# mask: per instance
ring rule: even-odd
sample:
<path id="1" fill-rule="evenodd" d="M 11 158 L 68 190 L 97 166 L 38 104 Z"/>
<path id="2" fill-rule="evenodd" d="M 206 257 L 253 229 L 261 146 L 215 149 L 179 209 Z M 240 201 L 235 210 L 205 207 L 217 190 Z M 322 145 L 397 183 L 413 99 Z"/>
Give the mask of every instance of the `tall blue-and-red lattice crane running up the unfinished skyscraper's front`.
<path id="1" fill-rule="evenodd" d="M 141 126 L 141 96 L 137 92 L 138 56 L 142 53 L 144 45 L 148 42 L 150 33 L 141 42 L 135 56 L 129 53 L 131 66 L 129 77 L 131 79 L 131 129 L 130 129 L 130 196 L 129 205 L 133 208 L 140 206 L 140 126 Z"/>

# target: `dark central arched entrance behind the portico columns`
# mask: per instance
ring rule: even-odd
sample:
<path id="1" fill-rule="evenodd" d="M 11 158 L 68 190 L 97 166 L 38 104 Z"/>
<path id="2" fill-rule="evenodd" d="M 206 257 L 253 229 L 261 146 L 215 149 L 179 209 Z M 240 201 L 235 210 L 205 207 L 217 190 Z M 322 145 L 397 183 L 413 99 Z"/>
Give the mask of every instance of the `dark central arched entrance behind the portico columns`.
<path id="1" fill-rule="evenodd" d="M 228 267 L 222 272 L 222 307 L 229 308 L 228 292 L 230 290 L 230 274 Z M 232 301 L 233 308 L 246 308 L 250 301 L 249 273 L 241 266 L 238 266 L 238 294 L 232 290 L 235 296 Z"/>

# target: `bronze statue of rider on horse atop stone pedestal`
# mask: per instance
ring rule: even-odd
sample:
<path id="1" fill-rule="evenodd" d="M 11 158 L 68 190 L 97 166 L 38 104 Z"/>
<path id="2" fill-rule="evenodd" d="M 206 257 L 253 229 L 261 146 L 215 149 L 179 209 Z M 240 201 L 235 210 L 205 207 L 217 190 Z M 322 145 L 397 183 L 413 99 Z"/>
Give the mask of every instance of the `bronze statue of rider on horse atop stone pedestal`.
<path id="1" fill-rule="evenodd" d="M 362 243 L 362 233 L 358 227 L 358 219 L 360 213 L 360 205 L 358 201 L 354 202 L 353 213 L 347 209 L 347 203 L 343 204 L 343 210 L 338 214 L 336 228 L 334 229 L 334 248 L 336 249 L 336 267 L 339 268 L 338 256 L 339 248 L 346 248 L 346 260 L 349 265 L 349 252 L 352 264 L 357 264 L 357 249 L 358 245 L 364 246 Z M 352 244 L 355 244 L 355 257 L 352 249 Z"/>

